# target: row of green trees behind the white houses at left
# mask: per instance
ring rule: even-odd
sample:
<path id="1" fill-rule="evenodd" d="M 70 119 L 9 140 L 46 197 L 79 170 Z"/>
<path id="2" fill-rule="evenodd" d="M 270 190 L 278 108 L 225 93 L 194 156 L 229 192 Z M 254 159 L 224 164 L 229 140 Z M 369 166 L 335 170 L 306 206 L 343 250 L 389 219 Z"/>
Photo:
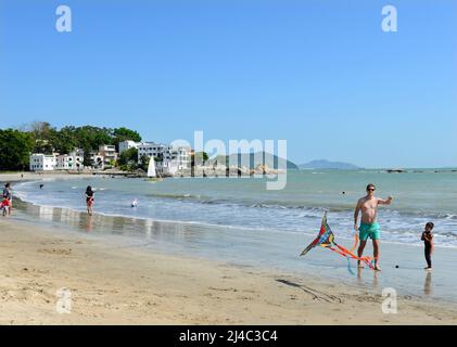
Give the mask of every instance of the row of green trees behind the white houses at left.
<path id="1" fill-rule="evenodd" d="M 61 129 L 46 121 L 35 121 L 20 129 L 0 129 L 0 170 L 24 170 L 29 167 L 30 153 L 67 154 L 84 150 L 84 165 L 90 166 L 90 152 L 100 145 L 115 145 L 122 141 L 141 141 L 131 129 L 66 126 Z M 131 154 L 131 153 L 130 153 Z"/>

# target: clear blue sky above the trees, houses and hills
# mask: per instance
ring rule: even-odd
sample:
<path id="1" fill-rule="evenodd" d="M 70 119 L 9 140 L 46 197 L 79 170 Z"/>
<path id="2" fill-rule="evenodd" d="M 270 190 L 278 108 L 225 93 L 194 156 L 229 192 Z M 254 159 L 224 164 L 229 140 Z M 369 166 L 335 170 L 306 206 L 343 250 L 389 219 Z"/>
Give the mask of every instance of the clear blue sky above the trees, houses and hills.
<path id="1" fill-rule="evenodd" d="M 457 1 L 0 0 L 0 128 L 35 120 L 456 167 Z"/>

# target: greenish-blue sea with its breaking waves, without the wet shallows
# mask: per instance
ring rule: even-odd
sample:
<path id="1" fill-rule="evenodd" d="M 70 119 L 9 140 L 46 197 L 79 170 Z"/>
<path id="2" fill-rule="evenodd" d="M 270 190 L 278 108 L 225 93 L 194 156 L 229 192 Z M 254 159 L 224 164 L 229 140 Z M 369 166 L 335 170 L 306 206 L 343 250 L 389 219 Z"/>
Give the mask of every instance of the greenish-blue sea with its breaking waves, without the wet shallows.
<path id="1" fill-rule="evenodd" d="M 457 172 L 452 170 L 290 171 L 281 191 L 268 191 L 266 182 L 266 178 L 45 179 L 15 183 L 14 194 L 36 205 L 84 211 L 85 190 L 92 185 L 99 214 L 237 228 L 253 236 L 268 231 L 279 242 L 291 233 L 316 234 L 325 210 L 337 237 L 352 239 L 354 206 L 372 182 L 380 197 L 394 196 L 394 203 L 379 211 L 383 241 L 420 245 L 424 224 L 433 221 L 436 245 L 457 247 Z M 134 200 L 139 202 L 135 208 Z"/>

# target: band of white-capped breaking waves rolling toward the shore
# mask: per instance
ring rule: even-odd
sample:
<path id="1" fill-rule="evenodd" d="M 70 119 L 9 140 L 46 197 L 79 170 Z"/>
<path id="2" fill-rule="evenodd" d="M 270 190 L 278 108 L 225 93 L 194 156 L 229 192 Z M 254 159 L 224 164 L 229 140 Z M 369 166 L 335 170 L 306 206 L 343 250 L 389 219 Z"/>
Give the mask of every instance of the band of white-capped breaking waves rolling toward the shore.
<path id="1" fill-rule="evenodd" d="M 73 185 L 72 185 L 73 184 Z M 20 189 L 15 195 L 25 202 L 49 207 L 63 207 L 74 210 L 84 210 L 80 206 L 80 195 L 73 189 L 75 183 L 68 184 L 66 193 L 54 194 L 62 191 L 62 187 L 39 191 L 36 187 L 30 190 Z M 296 201 L 284 201 L 283 198 L 255 200 L 250 196 L 227 198 L 217 196 L 217 192 L 210 196 L 210 192 L 199 193 L 140 193 L 140 205 L 138 209 L 130 208 L 130 196 L 135 194 L 134 185 L 130 191 L 117 192 L 115 188 L 102 187 L 100 190 L 99 213 L 106 216 L 118 216 L 135 219 L 147 219 L 166 222 L 196 223 L 201 226 L 213 226 L 223 228 L 245 228 L 246 230 L 270 230 L 277 232 L 299 232 L 314 234 L 320 226 L 320 218 L 323 211 L 331 214 L 332 228 L 340 236 L 352 234 L 352 204 L 315 204 L 312 202 L 300 203 Z M 80 189 L 80 188 L 79 188 Z M 240 191 L 240 195 L 246 195 Z M 104 200 L 102 200 L 102 197 Z M 274 196 L 278 197 L 278 196 Z M 282 196 L 281 196 L 282 197 Z M 102 205 L 104 203 L 105 205 Z M 82 204 L 82 203 L 81 203 Z M 53 206 L 52 206 L 53 205 Z M 128 207 L 126 207 L 128 206 Z M 389 241 L 401 241 L 401 243 L 418 243 L 417 232 L 420 233 L 424 222 L 435 222 L 440 245 L 457 244 L 457 214 L 449 211 L 430 210 L 406 210 L 382 208 L 379 213 L 383 232 Z M 411 233 L 412 231 L 412 233 Z M 436 240 L 439 241 L 439 240 Z"/>

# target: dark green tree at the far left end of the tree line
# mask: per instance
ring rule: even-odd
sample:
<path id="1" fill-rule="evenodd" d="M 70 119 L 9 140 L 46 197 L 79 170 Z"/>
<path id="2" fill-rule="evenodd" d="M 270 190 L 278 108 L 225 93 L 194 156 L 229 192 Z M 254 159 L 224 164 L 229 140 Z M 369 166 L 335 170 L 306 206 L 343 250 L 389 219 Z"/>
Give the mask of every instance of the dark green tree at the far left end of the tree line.
<path id="1" fill-rule="evenodd" d="M 30 133 L 0 129 L 0 170 L 28 169 L 33 147 Z"/>

